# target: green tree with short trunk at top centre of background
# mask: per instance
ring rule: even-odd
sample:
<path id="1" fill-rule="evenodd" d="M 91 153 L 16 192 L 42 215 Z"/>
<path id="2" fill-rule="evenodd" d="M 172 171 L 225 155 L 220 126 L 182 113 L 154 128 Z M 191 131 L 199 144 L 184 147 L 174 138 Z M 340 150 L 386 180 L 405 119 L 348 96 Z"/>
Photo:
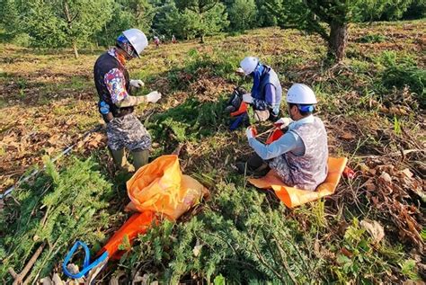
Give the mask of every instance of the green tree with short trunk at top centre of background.
<path id="1" fill-rule="evenodd" d="M 204 42 L 206 35 L 222 31 L 229 24 L 226 7 L 217 0 L 176 0 L 176 6 L 182 13 L 182 22 Z"/>

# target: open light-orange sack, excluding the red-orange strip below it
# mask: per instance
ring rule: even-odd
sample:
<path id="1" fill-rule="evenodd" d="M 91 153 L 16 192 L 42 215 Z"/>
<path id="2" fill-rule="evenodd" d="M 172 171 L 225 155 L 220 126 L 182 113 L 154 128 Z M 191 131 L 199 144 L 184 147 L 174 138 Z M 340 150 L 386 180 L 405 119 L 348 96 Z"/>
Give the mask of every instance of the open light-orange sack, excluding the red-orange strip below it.
<path id="1" fill-rule="evenodd" d="M 127 183 L 131 202 L 127 209 L 151 210 L 177 219 L 209 191 L 183 175 L 178 156 L 160 156 L 141 167 Z"/>

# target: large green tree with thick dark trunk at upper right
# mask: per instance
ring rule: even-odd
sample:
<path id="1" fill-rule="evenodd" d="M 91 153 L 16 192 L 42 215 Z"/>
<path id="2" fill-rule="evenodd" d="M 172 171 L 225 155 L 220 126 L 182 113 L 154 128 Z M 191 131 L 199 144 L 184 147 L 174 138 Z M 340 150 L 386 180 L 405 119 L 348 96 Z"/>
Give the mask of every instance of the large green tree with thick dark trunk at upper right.
<path id="1" fill-rule="evenodd" d="M 319 34 L 328 44 L 329 55 L 342 60 L 348 42 L 348 24 L 379 18 L 401 17 L 413 0 L 266 0 L 281 28 Z"/>

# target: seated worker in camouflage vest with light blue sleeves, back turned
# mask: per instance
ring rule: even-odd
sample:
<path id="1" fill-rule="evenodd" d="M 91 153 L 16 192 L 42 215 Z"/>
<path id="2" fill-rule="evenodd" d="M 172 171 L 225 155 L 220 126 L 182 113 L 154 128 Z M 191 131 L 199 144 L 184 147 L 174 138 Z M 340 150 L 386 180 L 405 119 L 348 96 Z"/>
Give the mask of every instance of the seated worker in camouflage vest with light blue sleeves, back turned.
<path id="1" fill-rule="evenodd" d="M 264 145 L 253 136 L 252 127 L 246 135 L 257 156 L 244 167 L 256 169 L 266 162 L 291 187 L 314 191 L 327 176 L 327 133 L 324 123 L 313 115 L 316 98 L 306 85 L 295 84 L 287 93 L 290 118 L 276 121 L 288 131 L 270 145 Z M 260 158 L 259 158 L 260 157 Z M 257 165 L 256 165 L 257 164 Z M 238 167 L 241 171 L 241 164 Z M 245 170 L 245 169 L 244 169 Z"/>

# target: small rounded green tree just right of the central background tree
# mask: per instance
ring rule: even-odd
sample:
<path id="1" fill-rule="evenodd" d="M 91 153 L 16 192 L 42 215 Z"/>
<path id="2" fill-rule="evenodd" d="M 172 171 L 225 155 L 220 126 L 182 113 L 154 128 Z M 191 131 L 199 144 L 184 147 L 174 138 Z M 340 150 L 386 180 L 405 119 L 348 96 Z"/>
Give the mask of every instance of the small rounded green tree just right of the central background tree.
<path id="1" fill-rule="evenodd" d="M 250 29 L 256 19 L 256 4 L 254 4 L 254 0 L 235 0 L 228 10 L 228 14 L 233 30 Z"/>

